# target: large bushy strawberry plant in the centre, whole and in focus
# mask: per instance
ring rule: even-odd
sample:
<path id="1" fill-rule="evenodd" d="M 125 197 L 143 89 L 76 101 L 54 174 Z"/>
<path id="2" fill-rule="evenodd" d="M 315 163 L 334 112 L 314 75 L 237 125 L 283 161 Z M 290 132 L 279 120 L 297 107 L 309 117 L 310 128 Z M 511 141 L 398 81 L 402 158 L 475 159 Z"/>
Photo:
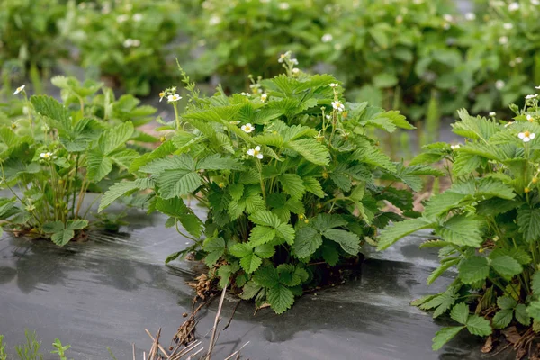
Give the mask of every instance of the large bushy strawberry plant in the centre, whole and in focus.
<path id="1" fill-rule="evenodd" d="M 150 210 L 193 240 L 167 261 L 195 251 L 220 287 L 277 313 L 325 269 L 357 257 L 375 229 L 401 219 L 383 202 L 414 214 L 411 193 L 392 184 L 419 190 L 419 175 L 439 175 L 393 163 L 366 135 L 412 129 L 399 112 L 346 103 L 333 76 L 293 71 L 289 53 L 280 59 L 286 74 L 254 80 L 251 94 L 219 87 L 202 97 L 184 78 L 190 102 L 181 115 L 176 89 L 160 94 L 177 113 L 161 127 L 166 140 L 133 161 L 139 179 L 113 185 L 100 204 L 153 189 Z M 186 198 L 206 208 L 206 220 Z"/>

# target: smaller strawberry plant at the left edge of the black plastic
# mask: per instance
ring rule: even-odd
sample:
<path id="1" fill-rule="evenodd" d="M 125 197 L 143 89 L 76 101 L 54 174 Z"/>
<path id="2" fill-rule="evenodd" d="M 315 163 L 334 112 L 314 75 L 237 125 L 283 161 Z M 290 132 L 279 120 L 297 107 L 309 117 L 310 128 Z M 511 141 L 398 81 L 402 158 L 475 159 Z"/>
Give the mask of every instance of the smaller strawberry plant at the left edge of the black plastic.
<path id="1" fill-rule="evenodd" d="M 101 84 L 63 76 L 52 83 L 64 103 L 45 95 L 28 99 L 21 86 L 15 93 L 24 100 L 0 117 L 0 220 L 15 235 L 63 246 L 89 226 L 85 194 L 130 177 L 125 170 L 145 150 L 127 143 L 157 139 L 135 130 L 155 110 L 132 96 L 115 100 L 110 89 L 95 94 Z"/>

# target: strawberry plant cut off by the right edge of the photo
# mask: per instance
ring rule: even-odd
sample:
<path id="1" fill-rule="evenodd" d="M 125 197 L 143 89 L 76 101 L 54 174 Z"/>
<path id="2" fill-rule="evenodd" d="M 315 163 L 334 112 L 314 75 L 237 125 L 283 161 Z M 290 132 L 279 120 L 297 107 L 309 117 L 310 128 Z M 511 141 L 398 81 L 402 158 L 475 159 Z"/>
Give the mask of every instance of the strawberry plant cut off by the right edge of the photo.
<path id="1" fill-rule="evenodd" d="M 459 112 L 454 132 L 461 145 L 431 144 L 413 166 L 445 160 L 452 186 L 426 204 L 422 216 L 384 229 L 378 248 L 419 229 L 435 239 L 421 247 L 439 247 L 441 266 L 428 284 L 451 269 L 455 281 L 443 293 L 413 302 L 433 316 L 450 313 L 460 325 L 441 329 L 433 348 L 462 329 L 488 336 L 516 325 L 537 331 L 540 325 L 540 133 L 538 94 L 525 106 L 511 105 L 511 121 Z M 450 169 L 450 167 L 448 167 Z"/>

